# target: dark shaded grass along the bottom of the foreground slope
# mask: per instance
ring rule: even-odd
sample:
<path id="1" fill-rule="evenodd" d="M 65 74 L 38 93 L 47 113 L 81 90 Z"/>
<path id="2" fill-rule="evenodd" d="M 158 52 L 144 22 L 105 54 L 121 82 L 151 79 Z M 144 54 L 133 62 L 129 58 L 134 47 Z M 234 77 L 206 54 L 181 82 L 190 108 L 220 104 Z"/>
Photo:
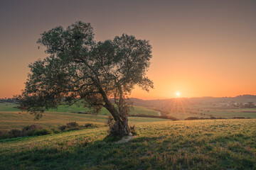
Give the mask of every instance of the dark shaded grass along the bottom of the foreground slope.
<path id="1" fill-rule="evenodd" d="M 67 142 L 3 152 L 0 169 L 255 169 L 252 159 L 235 157 L 228 152 L 212 152 L 212 157 L 206 157 L 198 153 L 189 156 L 168 152 L 167 148 L 161 150 L 166 147 L 166 142 L 159 142 L 163 136 L 137 136 L 131 142 L 114 145 L 116 140 L 118 138 L 106 136 L 93 142 Z M 232 160 L 234 157 L 237 165 Z M 219 164 L 222 158 L 225 164 Z"/>

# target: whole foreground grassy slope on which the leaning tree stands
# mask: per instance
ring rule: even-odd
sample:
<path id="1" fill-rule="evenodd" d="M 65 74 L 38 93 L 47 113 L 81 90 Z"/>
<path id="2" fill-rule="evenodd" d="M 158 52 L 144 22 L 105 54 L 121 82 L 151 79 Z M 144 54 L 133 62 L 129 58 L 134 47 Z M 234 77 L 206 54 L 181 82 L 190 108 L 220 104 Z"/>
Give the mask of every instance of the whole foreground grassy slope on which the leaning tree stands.
<path id="1" fill-rule="evenodd" d="M 0 140 L 0 169 L 256 169 L 256 120 L 137 124 L 114 145 L 107 127 Z"/>

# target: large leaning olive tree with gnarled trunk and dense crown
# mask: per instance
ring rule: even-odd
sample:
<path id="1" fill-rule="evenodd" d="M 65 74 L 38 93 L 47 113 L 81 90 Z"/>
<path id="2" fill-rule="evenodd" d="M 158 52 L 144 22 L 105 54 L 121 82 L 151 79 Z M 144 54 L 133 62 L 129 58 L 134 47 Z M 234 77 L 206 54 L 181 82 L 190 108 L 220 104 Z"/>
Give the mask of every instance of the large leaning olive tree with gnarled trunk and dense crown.
<path id="1" fill-rule="evenodd" d="M 123 34 L 95 42 L 90 23 L 78 21 L 68 28 L 45 31 L 38 44 L 49 55 L 29 64 L 26 87 L 18 96 L 19 108 L 41 118 L 43 111 L 81 101 L 86 107 L 112 115 L 112 135 L 129 133 L 127 96 L 134 86 L 149 91 L 146 77 L 151 59 L 147 40 Z"/>

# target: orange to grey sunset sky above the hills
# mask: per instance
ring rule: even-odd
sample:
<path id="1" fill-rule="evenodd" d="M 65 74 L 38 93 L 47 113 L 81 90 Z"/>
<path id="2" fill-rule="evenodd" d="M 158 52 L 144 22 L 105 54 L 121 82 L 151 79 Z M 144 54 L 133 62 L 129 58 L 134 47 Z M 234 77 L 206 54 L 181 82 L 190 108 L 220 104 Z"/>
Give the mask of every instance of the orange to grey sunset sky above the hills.
<path id="1" fill-rule="evenodd" d="M 1 1 L 0 98 L 21 94 L 28 64 L 47 55 L 45 30 L 82 21 L 95 40 L 127 33 L 149 40 L 154 81 L 142 99 L 256 95 L 256 1 Z"/>

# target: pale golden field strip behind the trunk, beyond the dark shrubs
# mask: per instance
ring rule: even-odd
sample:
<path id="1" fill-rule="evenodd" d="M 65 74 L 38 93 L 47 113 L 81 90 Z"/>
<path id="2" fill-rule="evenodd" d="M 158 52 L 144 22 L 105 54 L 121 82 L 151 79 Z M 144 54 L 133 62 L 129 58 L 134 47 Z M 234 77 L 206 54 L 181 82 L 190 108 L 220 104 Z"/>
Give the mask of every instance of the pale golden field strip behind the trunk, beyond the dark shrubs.
<path id="1" fill-rule="evenodd" d="M 79 125 L 93 123 L 99 126 L 107 125 L 108 115 L 91 115 L 68 112 L 45 112 L 40 120 L 33 120 L 34 116 L 26 112 L 0 111 L 0 131 L 21 129 L 26 125 L 40 124 L 43 128 L 58 128 L 59 125 L 65 125 L 71 121 L 76 121 Z M 130 124 L 166 121 L 159 118 L 137 118 L 130 117 Z"/>

